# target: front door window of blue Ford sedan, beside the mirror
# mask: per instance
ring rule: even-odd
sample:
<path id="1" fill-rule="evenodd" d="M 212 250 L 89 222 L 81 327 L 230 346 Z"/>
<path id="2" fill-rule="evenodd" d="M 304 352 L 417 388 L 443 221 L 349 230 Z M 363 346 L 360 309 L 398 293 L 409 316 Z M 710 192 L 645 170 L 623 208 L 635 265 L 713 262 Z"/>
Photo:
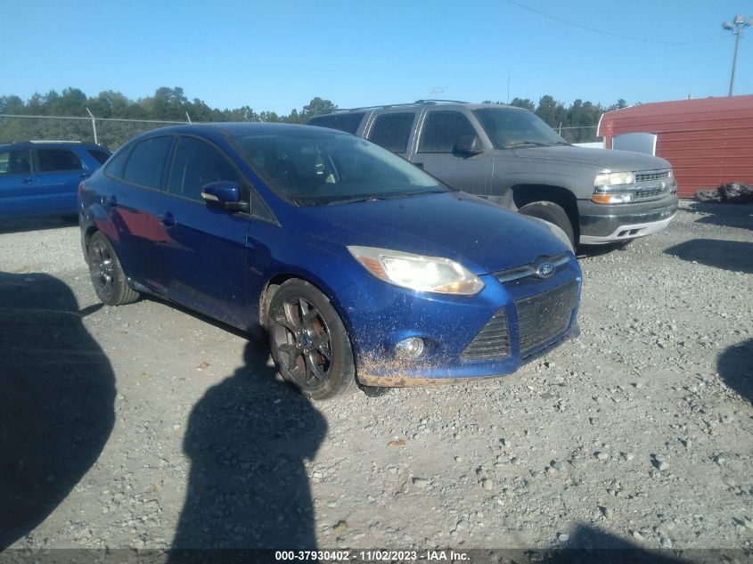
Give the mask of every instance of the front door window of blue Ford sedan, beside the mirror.
<path id="1" fill-rule="evenodd" d="M 192 137 L 179 137 L 170 173 L 170 193 L 203 201 L 201 186 L 217 180 L 240 184 L 241 177 L 230 161 L 208 143 Z"/>

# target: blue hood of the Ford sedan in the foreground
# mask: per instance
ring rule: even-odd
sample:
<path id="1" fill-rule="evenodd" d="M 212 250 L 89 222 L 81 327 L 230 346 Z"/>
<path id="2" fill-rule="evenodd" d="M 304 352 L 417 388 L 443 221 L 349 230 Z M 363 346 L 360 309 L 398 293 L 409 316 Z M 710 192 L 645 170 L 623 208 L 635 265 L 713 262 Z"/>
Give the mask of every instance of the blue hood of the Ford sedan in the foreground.
<path id="1" fill-rule="evenodd" d="M 474 274 L 527 264 L 569 250 L 547 227 L 464 192 L 298 208 L 312 233 L 339 245 L 447 257 Z M 302 223 L 301 223 L 302 222 Z"/>

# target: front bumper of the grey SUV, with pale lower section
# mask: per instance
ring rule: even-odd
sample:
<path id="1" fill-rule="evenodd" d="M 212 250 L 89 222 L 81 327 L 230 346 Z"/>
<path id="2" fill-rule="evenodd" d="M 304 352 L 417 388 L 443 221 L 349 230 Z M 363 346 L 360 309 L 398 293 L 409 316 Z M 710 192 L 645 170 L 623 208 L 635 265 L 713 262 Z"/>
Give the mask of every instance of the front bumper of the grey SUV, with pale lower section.
<path id="1" fill-rule="evenodd" d="M 659 233 L 675 217 L 677 206 L 675 194 L 641 204 L 614 206 L 578 200 L 580 242 L 598 245 Z"/>

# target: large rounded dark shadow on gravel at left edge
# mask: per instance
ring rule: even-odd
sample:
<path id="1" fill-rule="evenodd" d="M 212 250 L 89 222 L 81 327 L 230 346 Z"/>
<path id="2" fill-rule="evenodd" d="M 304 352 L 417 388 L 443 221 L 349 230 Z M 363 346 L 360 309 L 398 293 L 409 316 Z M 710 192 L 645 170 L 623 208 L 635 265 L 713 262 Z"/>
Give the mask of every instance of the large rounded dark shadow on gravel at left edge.
<path id="1" fill-rule="evenodd" d="M 0 551 L 37 527 L 110 437 L 115 377 L 70 288 L 0 272 Z"/>

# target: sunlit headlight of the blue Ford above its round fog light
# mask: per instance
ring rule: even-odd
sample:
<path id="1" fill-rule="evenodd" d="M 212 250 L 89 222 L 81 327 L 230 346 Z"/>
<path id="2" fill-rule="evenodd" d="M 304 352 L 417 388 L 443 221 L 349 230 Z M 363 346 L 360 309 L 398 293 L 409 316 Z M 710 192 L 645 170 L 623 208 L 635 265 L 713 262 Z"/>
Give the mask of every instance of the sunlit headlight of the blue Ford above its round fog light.
<path id="1" fill-rule="evenodd" d="M 459 296 L 472 296 L 484 288 L 476 274 L 449 258 L 376 247 L 351 246 L 348 250 L 371 274 L 403 288 Z"/>

